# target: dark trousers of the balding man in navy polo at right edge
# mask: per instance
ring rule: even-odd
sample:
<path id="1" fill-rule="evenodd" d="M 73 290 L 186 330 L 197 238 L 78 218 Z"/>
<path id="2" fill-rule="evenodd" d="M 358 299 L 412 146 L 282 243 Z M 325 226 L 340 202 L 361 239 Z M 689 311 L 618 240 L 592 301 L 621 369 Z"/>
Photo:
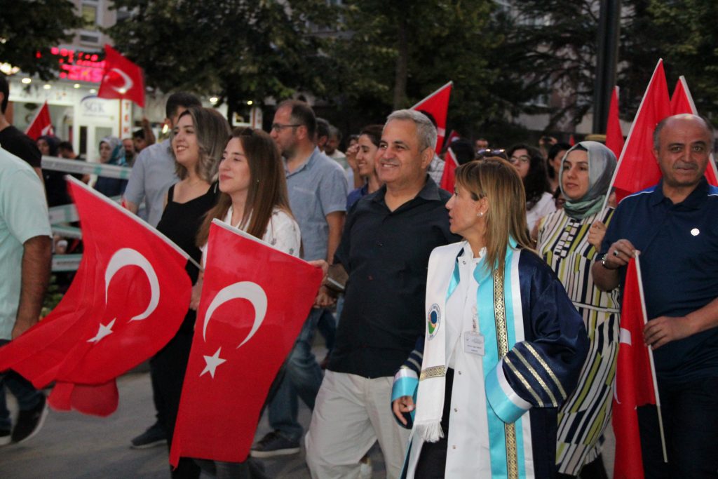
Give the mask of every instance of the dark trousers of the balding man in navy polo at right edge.
<path id="1" fill-rule="evenodd" d="M 718 478 L 718 378 L 680 385 L 658 381 L 668 464 L 656 406 L 638 408 L 646 479 Z"/>

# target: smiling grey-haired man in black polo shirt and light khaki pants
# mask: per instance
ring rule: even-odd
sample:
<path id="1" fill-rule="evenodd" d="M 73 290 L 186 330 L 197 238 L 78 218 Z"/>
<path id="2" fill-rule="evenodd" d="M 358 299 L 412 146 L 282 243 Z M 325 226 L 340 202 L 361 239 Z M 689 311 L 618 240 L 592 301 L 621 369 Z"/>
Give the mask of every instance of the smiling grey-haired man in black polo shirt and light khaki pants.
<path id="1" fill-rule="evenodd" d="M 337 342 L 305 439 L 314 478 L 358 477 L 378 440 L 389 478 L 398 477 L 409 431 L 392 419 L 393 374 L 424 332 L 426 267 L 449 231 L 449 193 L 427 175 L 437 131 L 400 110 L 384 126 L 376 192 L 356 203 L 334 256 L 348 273 Z"/>

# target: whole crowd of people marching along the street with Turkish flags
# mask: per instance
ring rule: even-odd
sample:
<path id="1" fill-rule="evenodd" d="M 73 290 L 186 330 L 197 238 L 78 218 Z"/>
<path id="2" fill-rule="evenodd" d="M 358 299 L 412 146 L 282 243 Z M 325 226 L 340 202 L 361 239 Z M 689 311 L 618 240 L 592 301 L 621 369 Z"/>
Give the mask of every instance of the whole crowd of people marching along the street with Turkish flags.
<path id="1" fill-rule="evenodd" d="M 183 457 L 172 477 L 261 475 L 252 464 L 296 454 L 304 439 L 314 478 L 365 476 L 376 442 L 389 478 L 607 478 L 621 291 L 637 249 L 669 458 L 663 466 L 655 407 L 640 407 L 645 470 L 715 476 L 718 189 L 703 177 L 713 137 L 702 118 L 658 125 L 663 179 L 615 208 L 617 160 L 597 141 L 457 139 L 447 192 L 437 128 L 421 111 L 363 127 L 345 153 L 340 131 L 302 101 L 279 103 L 269 133 L 232 131 L 189 93 L 169 96 L 166 116 L 162 142 L 145 129 L 102 139 L 100 161 L 131 175 L 100 177 L 96 190 L 122 195 L 198 264 L 219 219 L 325 271 L 266 399 L 271 432 L 251 459 Z M 0 288 L 4 343 L 37 322 L 50 276 L 47 207 L 70 203 L 39 155 L 77 159 L 66 141 L 33 144 L 15 130 L 0 116 L 0 264 L 17 271 Z M 172 441 L 202 289 L 202 271 L 188 263 L 187 274 L 185 320 L 150 361 L 157 422 L 133 447 Z M 317 329 L 330 349 L 323 367 L 312 353 Z M 11 427 L 0 393 L 0 443 L 27 440 L 45 396 L 15 373 L 1 381 L 21 412 Z M 313 411 L 307 431 L 299 399 Z"/>

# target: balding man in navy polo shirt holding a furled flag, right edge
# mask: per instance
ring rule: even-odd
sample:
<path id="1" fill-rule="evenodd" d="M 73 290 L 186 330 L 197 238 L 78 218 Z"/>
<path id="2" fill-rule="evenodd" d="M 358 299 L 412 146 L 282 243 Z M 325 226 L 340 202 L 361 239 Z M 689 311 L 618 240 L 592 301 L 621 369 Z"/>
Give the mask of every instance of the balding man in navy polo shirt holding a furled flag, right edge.
<path id="1" fill-rule="evenodd" d="M 713 144 L 699 116 L 656 126 L 653 153 L 663 179 L 626 197 L 602 243 L 596 285 L 623 286 L 635 250 L 668 447 L 663 464 L 655 406 L 638 408 L 647 478 L 714 478 L 718 471 L 718 188 L 704 172 Z"/>

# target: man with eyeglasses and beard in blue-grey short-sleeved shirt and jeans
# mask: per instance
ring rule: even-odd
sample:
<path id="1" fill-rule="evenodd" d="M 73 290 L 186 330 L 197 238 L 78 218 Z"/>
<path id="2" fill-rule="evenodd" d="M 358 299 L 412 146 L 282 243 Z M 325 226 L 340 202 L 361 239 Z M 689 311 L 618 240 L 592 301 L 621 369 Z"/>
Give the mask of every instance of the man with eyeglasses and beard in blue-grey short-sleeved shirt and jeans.
<path id="1" fill-rule="evenodd" d="M 332 261 L 339 245 L 347 202 L 347 181 L 337 162 L 315 144 L 317 118 L 307 103 L 279 104 L 270 135 L 284 157 L 289 205 L 302 233 L 302 259 Z M 322 370 L 312 354 L 312 339 L 322 309 L 313 309 L 285 365 L 285 376 L 269 403 L 274 429 L 251 450 L 252 457 L 299 452 L 302 426 L 297 422 L 297 396 L 309 409 L 322 383 Z"/>

